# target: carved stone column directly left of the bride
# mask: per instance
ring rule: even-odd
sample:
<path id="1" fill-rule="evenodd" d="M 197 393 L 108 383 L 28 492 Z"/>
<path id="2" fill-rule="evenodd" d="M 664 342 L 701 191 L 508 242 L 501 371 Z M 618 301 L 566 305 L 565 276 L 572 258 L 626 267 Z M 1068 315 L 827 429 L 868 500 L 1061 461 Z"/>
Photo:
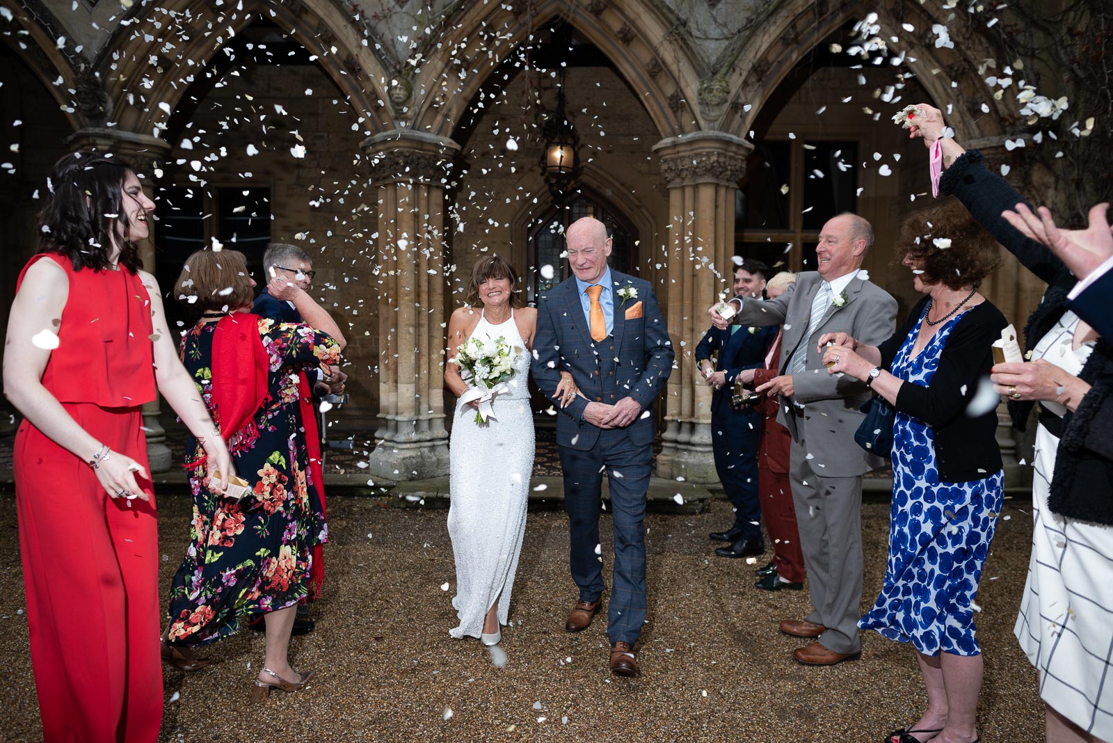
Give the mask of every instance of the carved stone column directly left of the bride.
<path id="1" fill-rule="evenodd" d="M 368 472 L 393 481 L 449 472 L 444 427 L 444 187 L 460 146 L 415 131 L 363 143 L 378 202 L 380 426 Z"/>

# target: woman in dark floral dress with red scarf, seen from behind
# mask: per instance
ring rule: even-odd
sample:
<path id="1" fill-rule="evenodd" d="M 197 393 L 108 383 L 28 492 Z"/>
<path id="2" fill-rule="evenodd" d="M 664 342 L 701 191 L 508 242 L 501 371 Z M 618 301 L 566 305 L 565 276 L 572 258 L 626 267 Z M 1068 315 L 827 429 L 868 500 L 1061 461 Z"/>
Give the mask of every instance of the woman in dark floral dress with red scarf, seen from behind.
<path id="1" fill-rule="evenodd" d="M 194 517 L 170 591 L 169 641 L 213 643 L 239 628 L 239 615 L 264 614 L 266 662 L 255 682 L 263 700 L 272 686 L 296 691 L 313 675 L 287 660 L 296 606 L 311 591 L 313 547 L 328 541 L 302 425 L 308 390 L 301 370 L 338 364 L 343 337 L 325 310 L 284 280 L 268 289 L 292 300 L 307 324 L 250 314 L 254 286 L 242 254 L 201 250 L 175 288 L 204 310 L 183 338 L 183 363 L 252 489 L 238 502 L 210 489 L 201 443 L 190 437 Z"/>

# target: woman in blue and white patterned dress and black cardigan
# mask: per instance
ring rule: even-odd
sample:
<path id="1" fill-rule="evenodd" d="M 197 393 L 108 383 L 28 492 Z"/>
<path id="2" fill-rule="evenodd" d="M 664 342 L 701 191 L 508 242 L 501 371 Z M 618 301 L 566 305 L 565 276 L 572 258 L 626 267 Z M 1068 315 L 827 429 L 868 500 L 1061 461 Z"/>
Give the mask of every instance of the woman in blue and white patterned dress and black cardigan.
<path id="1" fill-rule="evenodd" d="M 983 672 L 975 598 L 1004 473 L 997 397 L 988 406 L 972 400 L 1006 325 L 977 286 L 999 259 L 956 204 L 913 215 L 900 244 L 913 286 L 928 295 L 904 326 L 880 347 L 844 335 L 819 340 L 835 344 L 824 359 L 833 374 L 866 382 L 896 408 L 888 563 L 858 626 L 910 643 L 927 687 L 927 711 L 886 740 L 973 743 Z"/>

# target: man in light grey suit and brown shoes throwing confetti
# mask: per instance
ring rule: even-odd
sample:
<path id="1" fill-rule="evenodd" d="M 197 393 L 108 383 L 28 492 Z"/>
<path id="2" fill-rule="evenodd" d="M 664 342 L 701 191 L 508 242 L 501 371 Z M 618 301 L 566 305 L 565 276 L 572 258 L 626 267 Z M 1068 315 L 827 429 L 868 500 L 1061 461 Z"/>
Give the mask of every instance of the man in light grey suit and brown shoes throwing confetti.
<path id="1" fill-rule="evenodd" d="M 861 476 L 884 462 L 854 440 L 868 383 L 828 375 L 816 343 L 825 333 L 843 331 L 876 346 L 893 335 L 896 300 L 860 275 L 873 242 L 868 221 L 838 215 L 819 236 L 817 271 L 798 274 L 777 299 L 731 300 L 741 305 L 733 321 L 784 324 L 780 376 L 757 389 L 780 396 L 780 420 L 792 434 L 789 475 L 815 611 L 802 621 L 785 620 L 780 628 L 818 637 L 792 653 L 807 665 L 857 660 L 861 651 Z M 729 324 L 716 307 L 709 314 L 716 326 Z"/>

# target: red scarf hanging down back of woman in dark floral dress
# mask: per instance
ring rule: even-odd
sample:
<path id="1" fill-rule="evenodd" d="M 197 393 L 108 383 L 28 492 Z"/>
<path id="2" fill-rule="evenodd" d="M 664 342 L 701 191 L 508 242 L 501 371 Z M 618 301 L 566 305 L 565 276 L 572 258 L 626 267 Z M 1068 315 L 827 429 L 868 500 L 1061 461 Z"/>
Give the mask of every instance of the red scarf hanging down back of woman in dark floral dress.
<path id="1" fill-rule="evenodd" d="M 259 316 L 221 317 L 213 333 L 213 407 L 229 452 L 259 437 L 255 414 L 267 397 L 270 363 L 259 337 Z"/>

